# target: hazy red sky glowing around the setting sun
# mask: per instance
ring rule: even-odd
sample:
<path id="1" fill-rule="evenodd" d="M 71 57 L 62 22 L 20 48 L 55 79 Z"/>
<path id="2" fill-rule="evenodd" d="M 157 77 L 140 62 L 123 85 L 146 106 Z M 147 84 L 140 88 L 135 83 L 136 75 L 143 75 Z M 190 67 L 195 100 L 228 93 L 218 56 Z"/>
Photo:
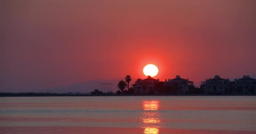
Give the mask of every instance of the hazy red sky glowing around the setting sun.
<path id="1" fill-rule="evenodd" d="M 1 0 L 0 91 L 256 77 L 256 0 Z"/>

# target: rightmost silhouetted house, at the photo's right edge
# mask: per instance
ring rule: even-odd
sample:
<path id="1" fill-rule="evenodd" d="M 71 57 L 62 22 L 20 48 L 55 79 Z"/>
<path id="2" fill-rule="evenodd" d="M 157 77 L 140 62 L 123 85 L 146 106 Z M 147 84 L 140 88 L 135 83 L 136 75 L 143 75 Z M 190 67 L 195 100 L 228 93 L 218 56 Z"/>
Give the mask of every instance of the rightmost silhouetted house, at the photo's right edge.
<path id="1" fill-rule="evenodd" d="M 232 84 L 232 93 L 256 93 L 256 79 L 251 78 L 249 75 L 244 75 L 243 78 L 235 79 L 235 81 Z"/>

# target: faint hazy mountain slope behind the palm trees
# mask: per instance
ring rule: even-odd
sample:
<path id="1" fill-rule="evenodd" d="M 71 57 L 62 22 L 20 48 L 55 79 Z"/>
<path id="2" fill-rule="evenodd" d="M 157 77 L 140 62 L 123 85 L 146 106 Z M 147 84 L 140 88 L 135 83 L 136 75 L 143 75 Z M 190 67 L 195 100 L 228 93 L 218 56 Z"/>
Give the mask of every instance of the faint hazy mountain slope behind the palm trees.
<path id="1" fill-rule="evenodd" d="M 110 90 L 112 92 L 116 92 L 119 90 L 117 88 L 117 84 L 120 80 L 124 80 L 124 78 L 119 78 L 119 79 L 113 79 L 113 80 L 90 80 L 90 81 L 85 81 L 85 82 L 80 82 L 76 83 L 73 85 L 67 85 L 64 87 L 57 87 L 57 88 L 50 88 L 45 90 L 44 92 L 46 93 L 91 93 L 92 90 L 94 89 L 99 89 L 104 92 L 104 90 L 107 92 L 107 90 Z M 131 84 L 134 83 L 135 80 L 132 80 L 130 82 L 130 87 Z M 112 86 L 107 86 L 103 85 L 100 83 L 113 83 L 114 85 Z"/>

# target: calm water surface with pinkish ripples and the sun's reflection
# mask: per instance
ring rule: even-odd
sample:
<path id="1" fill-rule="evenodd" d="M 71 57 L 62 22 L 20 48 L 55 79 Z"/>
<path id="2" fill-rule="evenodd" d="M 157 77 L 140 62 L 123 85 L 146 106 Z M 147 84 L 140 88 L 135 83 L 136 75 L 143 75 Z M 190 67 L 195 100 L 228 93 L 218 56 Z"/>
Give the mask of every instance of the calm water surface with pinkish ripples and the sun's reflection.
<path id="1" fill-rule="evenodd" d="M 0 134 L 256 134 L 256 96 L 0 98 Z"/>

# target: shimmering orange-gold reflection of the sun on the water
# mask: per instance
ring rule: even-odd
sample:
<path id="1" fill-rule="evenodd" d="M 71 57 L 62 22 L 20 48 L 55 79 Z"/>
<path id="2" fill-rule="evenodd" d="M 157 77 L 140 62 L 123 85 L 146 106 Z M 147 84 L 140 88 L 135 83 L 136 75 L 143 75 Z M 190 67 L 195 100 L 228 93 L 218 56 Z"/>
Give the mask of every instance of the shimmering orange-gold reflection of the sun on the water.
<path id="1" fill-rule="evenodd" d="M 141 128 L 144 129 L 144 134 L 159 134 L 161 127 L 161 115 L 157 112 L 159 101 L 143 101 L 143 110 Z"/>

